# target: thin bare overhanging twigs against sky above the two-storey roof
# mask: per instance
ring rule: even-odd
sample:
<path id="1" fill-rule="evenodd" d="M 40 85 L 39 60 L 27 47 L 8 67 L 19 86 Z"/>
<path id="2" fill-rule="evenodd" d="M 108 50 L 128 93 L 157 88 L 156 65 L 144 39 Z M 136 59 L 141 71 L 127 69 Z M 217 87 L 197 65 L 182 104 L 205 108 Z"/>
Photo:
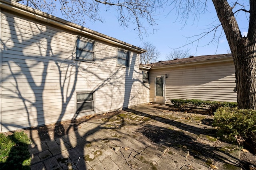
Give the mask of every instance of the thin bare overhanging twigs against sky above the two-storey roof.
<path id="1" fill-rule="evenodd" d="M 64 19 L 79 25 L 86 25 L 87 21 L 104 22 L 100 11 L 104 9 L 116 10 L 120 25 L 128 27 L 134 25 L 139 37 L 148 35 L 149 27 L 154 32 L 157 25 L 154 19 L 156 8 L 164 3 L 160 0 L 17 0 L 32 8 L 42 10 L 48 14 L 61 12 Z M 105 8 L 103 8 L 105 7 Z"/>

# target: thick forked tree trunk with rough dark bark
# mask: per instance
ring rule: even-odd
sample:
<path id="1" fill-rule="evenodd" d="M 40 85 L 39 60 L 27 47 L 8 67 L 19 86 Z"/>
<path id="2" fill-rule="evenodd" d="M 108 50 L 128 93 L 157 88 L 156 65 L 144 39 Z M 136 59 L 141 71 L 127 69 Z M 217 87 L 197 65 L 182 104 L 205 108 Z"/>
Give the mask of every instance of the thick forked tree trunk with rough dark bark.
<path id="1" fill-rule="evenodd" d="M 247 37 L 242 37 L 227 0 L 212 0 L 212 2 L 234 59 L 238 107 L 256 109 L 256 1 L 250 0 Z"/>

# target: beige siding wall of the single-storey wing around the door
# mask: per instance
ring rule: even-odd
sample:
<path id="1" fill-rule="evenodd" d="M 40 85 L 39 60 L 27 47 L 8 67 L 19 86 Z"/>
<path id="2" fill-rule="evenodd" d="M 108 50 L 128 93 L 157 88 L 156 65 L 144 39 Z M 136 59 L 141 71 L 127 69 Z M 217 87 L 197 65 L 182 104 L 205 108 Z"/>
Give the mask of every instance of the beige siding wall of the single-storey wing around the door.
<path id="1" fill-rule="evenodd" d="M 166 104 L 170 99 L 236 102 L 235 68 L 232 61 L 150 70 L 150 102 L 154 102 L 154 76 L 168 74 Z"/>

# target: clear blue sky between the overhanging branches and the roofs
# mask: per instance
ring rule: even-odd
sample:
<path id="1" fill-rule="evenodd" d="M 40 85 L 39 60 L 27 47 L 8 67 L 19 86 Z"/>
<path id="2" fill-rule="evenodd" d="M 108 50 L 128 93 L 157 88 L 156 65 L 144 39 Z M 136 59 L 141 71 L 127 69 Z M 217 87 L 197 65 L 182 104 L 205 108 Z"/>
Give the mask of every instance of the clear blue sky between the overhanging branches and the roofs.
<path id="1" fill-rule="evenodd" d="M 212 25 L 220 24 L 212 1 L 207 1 L 207 6 L 208 11 L 199 16 L 199 21 L 196 20 L 193 22 L 193 18 L 189 18 L 188 22 L 185 23 L 184 28 L 182 28 L 184 23 L 180 23 L 180 18 L 176 21 L 177 15 L 175 12 L 168 14 L 170 8 L 166 8 L 164 11 L 158 11 L 156 16 L 156 23 L 158 25 L 154 27 L 158 30 L 153 33 L 152 28 L 150 27 L 147 30 L 148 35 L 144 35 L 143 39 L 138 37 L 138 32 L 134 30 L 134 25 L 130 24 L 128 28 L 120 26 L 118 19 L 116 18 L 117 12 L 114 10 L 101 12 L 102 19 L 105 20 L 104 23 L 101 23 L 100 21 L 90 23 L 87 21 L 84 26 L 136 46 L 142 45 L 142 42 L 148 41 L 155 45 L 158 51 L 160 51 L 161 55 L 158 60 L 164 61 L 166 60 L 166 55 L 173 51 L 173 49 L 182 47 L 198 38 L 193 37 L 194 35 L 209 31 L 212 29 Z M 239 22 L 242 35 L 247 35 L 248 18 L 239 13 L 236 18 Z M 222 29 L 218 29 L 217 35 L 220 35 L 221 30 Z M 212 41 L 213 36 L 213 33 L 210 33 L 200 39 L 199 43 L 196 41 L 195 43 L 186 45 L 180 49 L 190 49 L 190 54 L 194 56 L 228 53 L 230 48 L 224 32 L 222 32 L 220 38 Z"/>

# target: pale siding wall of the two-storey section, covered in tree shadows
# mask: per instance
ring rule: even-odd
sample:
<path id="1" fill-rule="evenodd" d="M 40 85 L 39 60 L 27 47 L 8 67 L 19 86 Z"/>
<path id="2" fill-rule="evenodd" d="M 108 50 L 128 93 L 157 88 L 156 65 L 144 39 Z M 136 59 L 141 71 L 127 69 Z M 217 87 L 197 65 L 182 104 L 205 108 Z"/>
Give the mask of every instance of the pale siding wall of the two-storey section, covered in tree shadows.
<path id="1" fill-rule="evenodd" d="M 95 113 L 149 101 L 136 53 L 117 67 L 116 47 L 96 41 L 95 63 L 75 61 L 73 33 L 4 11 L 1 41 L 3 132 L 73 119 L 76 91 L 95 91 Z"/>

